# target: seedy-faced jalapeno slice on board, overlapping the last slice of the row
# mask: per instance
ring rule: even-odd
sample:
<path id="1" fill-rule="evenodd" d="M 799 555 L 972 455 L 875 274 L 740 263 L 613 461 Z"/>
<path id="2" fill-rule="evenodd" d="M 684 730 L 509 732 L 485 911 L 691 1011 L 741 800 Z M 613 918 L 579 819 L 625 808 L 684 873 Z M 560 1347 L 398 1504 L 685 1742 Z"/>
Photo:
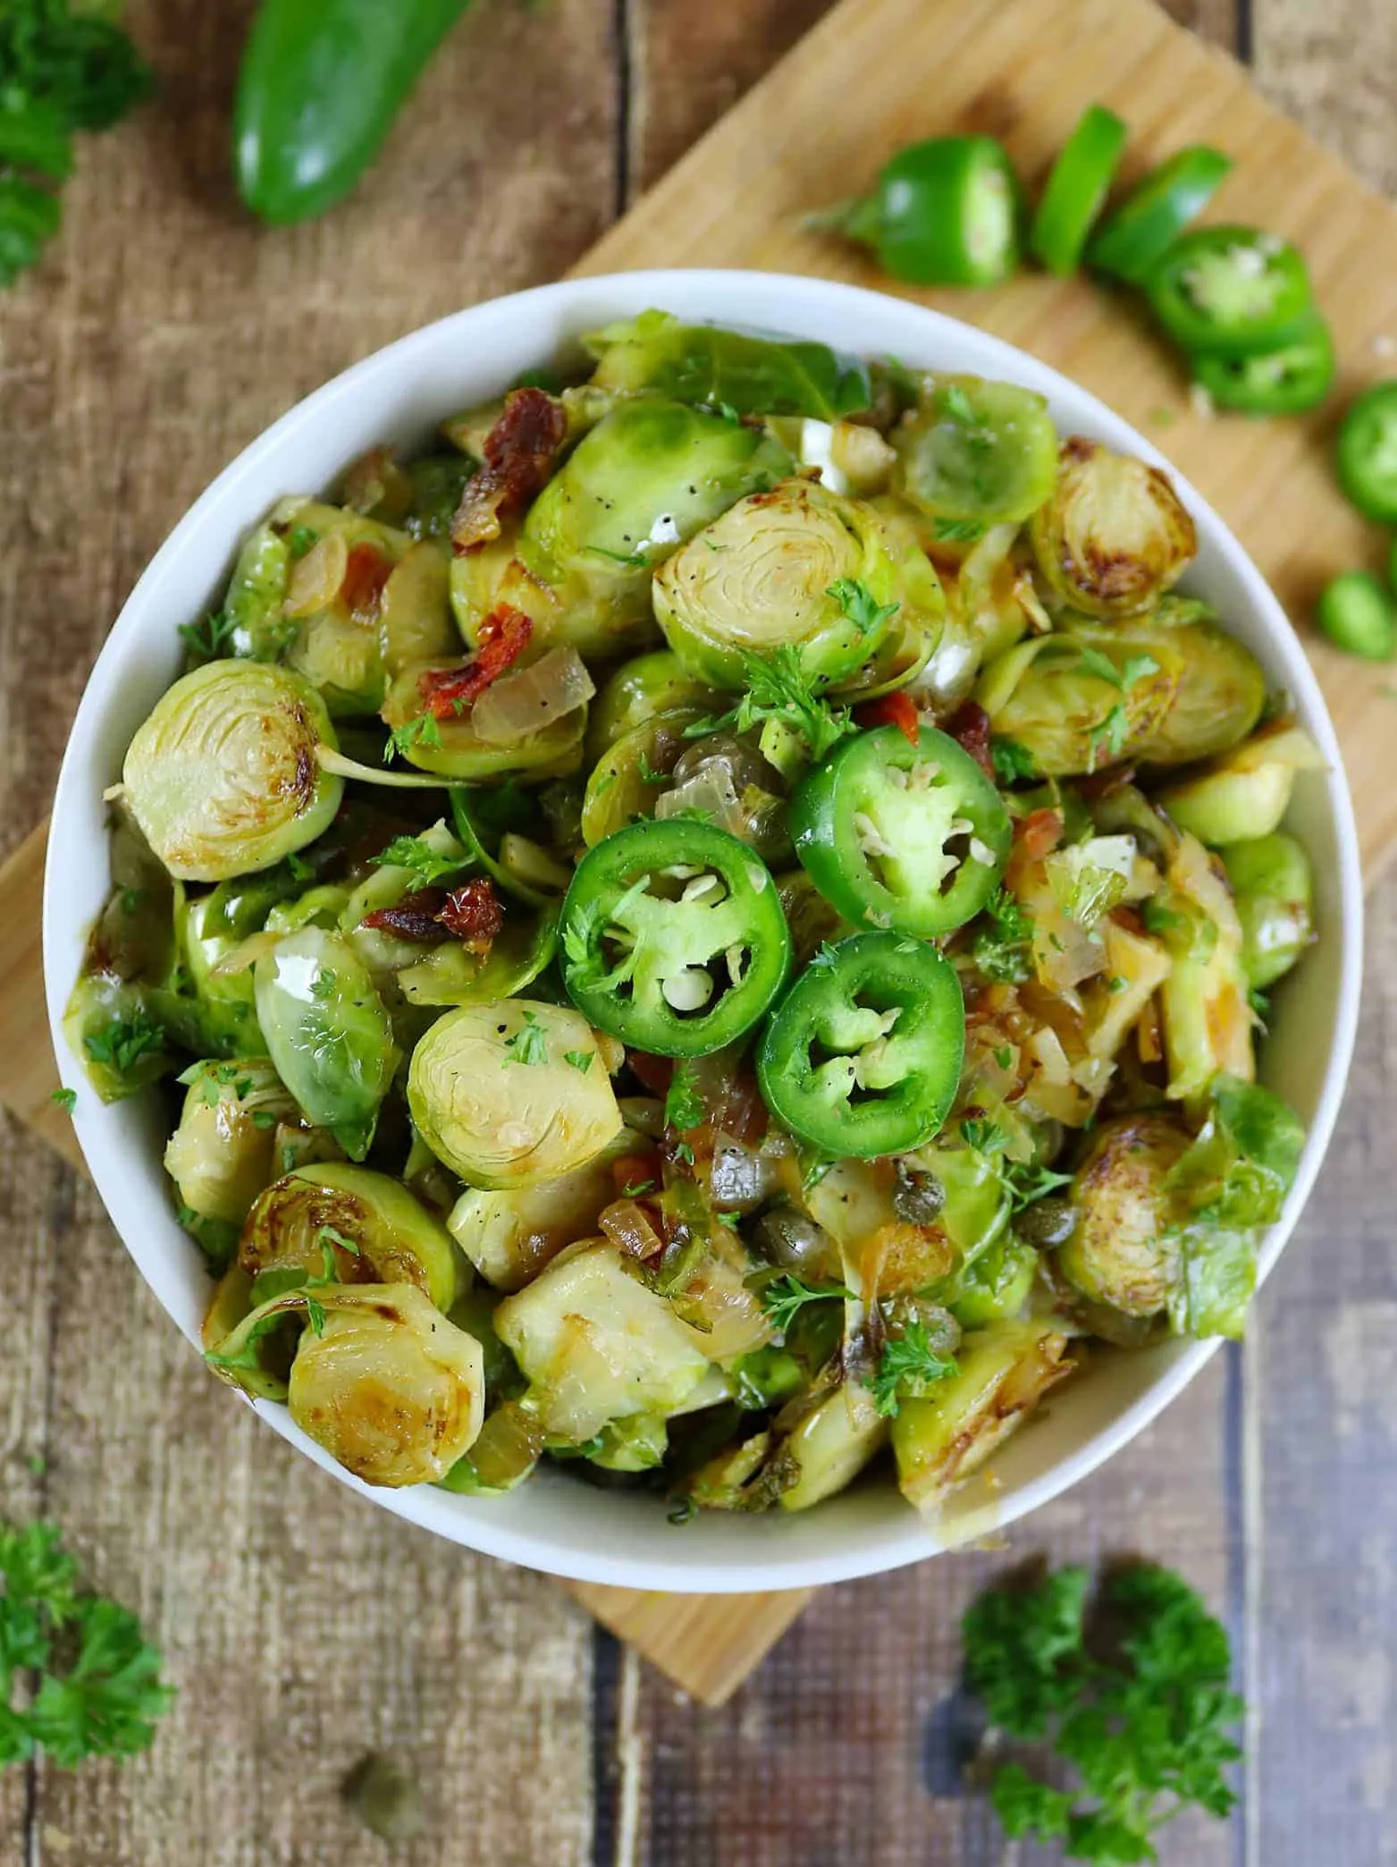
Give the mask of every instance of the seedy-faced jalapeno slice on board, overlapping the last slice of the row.
<path id="1" fill-rule="evenodd" d="M 1311 316 L 1309 273 L 1279 233 L 1197 228 L 1151 271 L 1155 316 L 1186 351 L 1252 357 L 1296 336 Z"/>

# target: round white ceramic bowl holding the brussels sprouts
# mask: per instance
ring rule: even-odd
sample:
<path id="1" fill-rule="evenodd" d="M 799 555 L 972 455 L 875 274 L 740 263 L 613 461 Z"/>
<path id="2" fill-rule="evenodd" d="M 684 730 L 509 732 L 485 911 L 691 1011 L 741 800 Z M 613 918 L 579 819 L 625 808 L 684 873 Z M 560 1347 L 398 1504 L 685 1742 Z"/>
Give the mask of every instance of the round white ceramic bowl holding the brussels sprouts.
<path id="1" fill-rule="evenodd" d="M 60 1031 L 84 934 L 108 885 L 103 788 L 179 672 L 175 625 L 216 605 L 239 540 L 280 495 L 319 491 L 371 442 L 423 441 L 440 416 L 496 396 L 578 332 L 653 304 L 694 321 L 796 332 L 862 355 L 1024 383 L 1048 398 L 1061 431 L 1093 435 L 1168 467 L 1095 396 L 981 330 L 851 286 L 763 273 L 629 273 L 479 304 L 366 358 L 276 422 L 175 526 L 121 611 L 73 724 L 52 820 L 58 861 L 45 881 L 48 1014 L 63 1077 L 78 1090 L 78 1139 L 131 1256 L 190 1344 L 198 1344 L 209 1279 L 173 1217 L 157 1102 L 103 1107 L 84 1088 Z M 1349 1070 L 1362 971 L 1358 844 L 1334 728 L 1289 622 L 1222 519 L 1179 476 L 1175 484 L 1199 534 L 1184 588 L 1214 603 L 1270 683 L 1293 695 L 1330 762 L 1328 773 L 1300 777 L 1289 820 L 1315 861 L 1321 934 L 1276 995 L 1276 1031 L 1265 1047 L 1266 1081 L 1300 1111 L 1309 1133 L 1285 1215 L 1263 1251 L 1265 1275 L 1313 1186 Z M 257 1411 L 373 1503 L 472 1550 L 636 1589 L 795 1589 L 916 1563 L 1056 1497 L 1132 1439 L 1214 1348 L 1168 1342 L 1134 1355 L 1100 1355 L 994 1460 L 994 1490 L 972 1484 L 936 1529 L 920 1522 L 892 1482 L 856 1488 L 798 1518 L 714 1512 L 683 1529 L 666 1522 L 655 1497 L 593 1490 L 563 1473 L 543 1473 L 500 1499 L 425 1486 L 369 1490 L 293 1426 L 284 1408 L 257 1402 Z M 214 1447 L 209 1456 L 216 1456 Z"/>

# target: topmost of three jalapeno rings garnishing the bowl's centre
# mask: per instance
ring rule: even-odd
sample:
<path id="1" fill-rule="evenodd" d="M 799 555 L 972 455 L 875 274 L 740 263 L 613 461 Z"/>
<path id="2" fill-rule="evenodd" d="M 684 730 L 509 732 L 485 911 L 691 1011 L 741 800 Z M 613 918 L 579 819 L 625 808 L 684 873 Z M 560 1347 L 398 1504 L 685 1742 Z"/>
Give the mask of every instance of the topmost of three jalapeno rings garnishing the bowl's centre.
<path id="1" fill-rule="evenodd" d="M 1009 857 L 1003 799 L 975 760 L 931 726 L 845 739 L 791 801 L 796 857 L 860 926 L 923 939 L 977 915 Z"/>

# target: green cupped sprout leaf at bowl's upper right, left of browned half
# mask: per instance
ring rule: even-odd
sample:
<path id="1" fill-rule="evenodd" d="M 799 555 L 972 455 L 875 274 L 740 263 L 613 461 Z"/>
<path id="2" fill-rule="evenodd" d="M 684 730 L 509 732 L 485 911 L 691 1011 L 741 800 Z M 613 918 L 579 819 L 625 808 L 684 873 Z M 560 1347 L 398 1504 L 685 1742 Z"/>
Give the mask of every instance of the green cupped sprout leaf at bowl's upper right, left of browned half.
<path id="1" fill-rule="evenodd" d="M 895 491 L 933 521 L 933 538 L 1017 525 L 1052 495 L 1058 431 L 1048 403 L 1015 383 L 923 377 L 892 433 Z"/>

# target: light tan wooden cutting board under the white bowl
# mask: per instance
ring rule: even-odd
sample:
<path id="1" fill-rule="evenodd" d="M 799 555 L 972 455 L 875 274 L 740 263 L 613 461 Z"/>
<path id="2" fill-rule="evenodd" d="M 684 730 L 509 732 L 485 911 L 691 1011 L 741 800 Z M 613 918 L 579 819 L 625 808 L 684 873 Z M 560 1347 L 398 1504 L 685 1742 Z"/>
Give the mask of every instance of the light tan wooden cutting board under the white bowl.
<path id="1" fill-rule="evenodd" d="M 1127 181 L 1186 142 L 1237 155 L 1212 218 L 1274 228 L 1306 252 L 1339 345 L 1332 407 L 1373 377 L 1397 373 L 1397 211 L 1153 0 L 845 0 L 612 228 L 582 271 L 737 265 L 899 289 L 1093 388 L 1222 510 L 1306 633 L 1373 879 L 1397 849 L 1397 674 L 1337 655 L 1302 622 L 1328 575 L 1382 568 L 1386 554 L 1386 540 L 1334 489 L 1332 409 L 1289 422 L 1210 420 L 1190 407 L 1177 366 L 1136 308 L 1086 280 L 1024 274 L 994 291 L 906 291 L 800 226 L 811 207 L 865 189 L 901 144 L 946 131 L 1002 136 L 1033 185 L 1095 99 L 1130 125 Z M 58 1077 L 39 960 L 43 849 L 41 827 L 0 870 L 0 1103 L 82 1167 L 50 1102 Z M 705 1598 L 569 1587 L 714 1705 L 808 1600 L 800 1591 Z"/>

